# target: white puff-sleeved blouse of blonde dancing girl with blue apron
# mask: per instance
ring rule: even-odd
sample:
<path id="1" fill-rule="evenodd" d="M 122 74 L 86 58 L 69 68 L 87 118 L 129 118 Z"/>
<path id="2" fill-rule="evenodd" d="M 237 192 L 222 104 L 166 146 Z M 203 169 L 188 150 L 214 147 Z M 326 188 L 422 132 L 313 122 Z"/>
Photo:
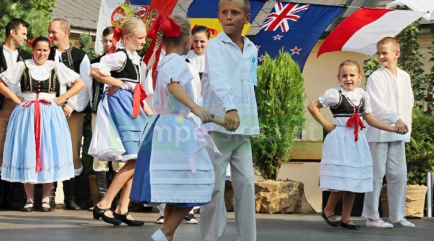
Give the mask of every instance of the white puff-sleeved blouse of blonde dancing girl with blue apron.
<path id="1" fill-rule="evenodd" d="M 140 68 L 140 60 L 142 59 L 142 57 L 140 57 L 140 55 L 138 55 L 138 53 L 136 51 L 134 51 L 134 53 L 129 52 L 129 50 L 127 48 L 125 48 L 125 46 L 120 42 L 118 42 L 118 44 L 116 44 L 116 47 L 118 49 L 124 48 L 127 51 L 127 55 L 129 57 L 129 59 L 131 59 L 131 61 L 135 65 L 139 66 L 138 73 L 142 74 L 142 71 L 140 70 L 141 69 Z M 99 63 L 92 63 L 90 65 L 90 67 L 92 69 L 98 68 L 102 74 L 105 74 L 106 76 L 111 76 L 112 75 L 112 74 L 110 74 L 111 71 L 119 70 L 120 68 L 122 68 L 125 61 L 127 61 L 127 55 L 125 55 L 125 53 L 123 51 L 111 53 L 110 55 L 105 55 L 104 57 L 102 57 L 101 61 Z M 142 83 L 142 79 L 144 79 L 144 78 L 142 78 L 142 76 L 140 76 L 140 83 Z M 136 87 L 136 83 L 132 83 L 129 81 L 123 81 L 122 89 L 127 89 L 129 91 L 133 91 L 135 87 Z"/>

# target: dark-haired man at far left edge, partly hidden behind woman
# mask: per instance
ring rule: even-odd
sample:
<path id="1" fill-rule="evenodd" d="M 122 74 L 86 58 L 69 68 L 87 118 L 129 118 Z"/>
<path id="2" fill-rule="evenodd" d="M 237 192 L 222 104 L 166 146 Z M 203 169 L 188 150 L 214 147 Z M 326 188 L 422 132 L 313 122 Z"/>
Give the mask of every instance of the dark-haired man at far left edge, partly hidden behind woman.
<path id="1" fill-rule="evenodd" d="M 0 72 L 7 70 L 18 61 L 31 59 L 31 54 L 20 49 L 27 42 L 28 27 L 29 23 L 20 18 L 14 18 L 6 25 L 6 40 L 0 45 Z M 10 85 L 9 88 L 14 91 L 15 94 L 21 96 L 20 85 Z M 0 167 L 3 164 L 3 146 L 6 131 L 8 130 L 8 122 L 15 107 L 16 104 L 12 100 L 0 94 Z M 3 203 L 3 197 L 12 195 L 12 193 L 10 193 L 11 188 L 8 188 L 8 185 L 10 184 L 0 180 L 0 207 L 3 206 L 3 204 L 7 205 Z M 4 206 L 3 208 L 7 207 Z"/>

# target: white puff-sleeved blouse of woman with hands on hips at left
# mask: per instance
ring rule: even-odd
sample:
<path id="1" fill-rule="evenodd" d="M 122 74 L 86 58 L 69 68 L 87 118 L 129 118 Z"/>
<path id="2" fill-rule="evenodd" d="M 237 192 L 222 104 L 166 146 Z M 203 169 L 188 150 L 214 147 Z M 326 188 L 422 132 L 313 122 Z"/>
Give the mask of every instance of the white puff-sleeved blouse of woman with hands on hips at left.
<path id="1" fill-rule="evenodd" d="M 31 79 L 33 79 L 34 81 L 46 81 L 49 78 L 51 70 L 53 70 L 53 68 L 57 68 L 58 81 L 60 85 L 68 85 L 71 87 L 72 83 L 80 78 L 79 74 L 66 67 L 63 63 L 56 63 L 55 61 L 51 60 L 48 60 L 42 66 L 38 66 L 33 59 L 27 59 L 25 60 L 25 66 L 29 69 Z M 10 85 L 18 85 L 21 82 L 23 70 L 24 62 L 20 61 L 8 68 L 8 70 L 6 70 L 5 72 L 2 72 L 0 74 L 0 78 L 5 82 L 6 85 L 8 85 L 8 87 Z M 23 93 L 23 98 L 25 100 L 37 100 L 36 97 L 37 95 L 35 92 Z M 53 100 L 54 98 L 55 94 L 49 94 L 44 92 L 41 92 L 39 94 L 39 99 Z"/>

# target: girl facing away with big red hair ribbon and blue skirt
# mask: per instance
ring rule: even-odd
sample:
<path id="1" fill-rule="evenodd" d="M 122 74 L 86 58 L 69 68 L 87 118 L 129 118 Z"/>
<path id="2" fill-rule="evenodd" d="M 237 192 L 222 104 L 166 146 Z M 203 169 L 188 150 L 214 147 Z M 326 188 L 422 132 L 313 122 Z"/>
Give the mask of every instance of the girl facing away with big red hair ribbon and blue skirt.
<path id="1" fill-rule="evenodd" d="M 196 104 L 193 76 L 185 57 L 190 50 L 190 23 L 179 16 L 160 17 L 148 35 L 155 49 L 149 65 L 155 83 L 154 115 L 146 119 L 136 162 L 131 199 L 146 203 L 167 203 L 164 225 L 152 238 L 173 240 L 175 230 L 186 214 L 211 200 L 214 171 L 205 150 L 218 153 L 207 132 L 201 131 L 190 111 L 202 122 L 214 116 Z M 160 61 L 164 44 L 166 56 Z"/>

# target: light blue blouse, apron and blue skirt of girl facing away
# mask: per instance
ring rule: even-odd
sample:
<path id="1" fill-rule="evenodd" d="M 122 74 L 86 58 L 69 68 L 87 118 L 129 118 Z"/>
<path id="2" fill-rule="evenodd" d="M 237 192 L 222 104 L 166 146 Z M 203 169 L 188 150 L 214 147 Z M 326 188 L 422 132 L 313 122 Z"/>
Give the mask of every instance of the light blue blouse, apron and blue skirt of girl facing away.
<path id="1" fill-rule="evenodd" d="M 214 188 L 214 171 L 205 147 L 218 150 L 209 135 L 187 117 L 190 109 L 168 91 L 171 81 L 179 82 L 193 99 L 193 76 L 186 60 L 177 54 L 163 57 L 157 72 L 156 114 L 144 124 L 130 198 L 180 208 L 205 205 Z"/>

